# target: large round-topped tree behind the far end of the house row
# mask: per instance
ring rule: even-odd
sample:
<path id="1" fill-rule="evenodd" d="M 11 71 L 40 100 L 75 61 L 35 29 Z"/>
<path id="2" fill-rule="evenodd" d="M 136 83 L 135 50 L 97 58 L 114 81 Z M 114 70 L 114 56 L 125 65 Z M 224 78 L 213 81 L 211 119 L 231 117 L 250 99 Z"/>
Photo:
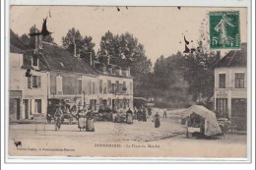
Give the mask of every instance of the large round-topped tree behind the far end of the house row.
<path id="1" fill-rule="evenodd" d="M 108 30 L 101 37 L 97 55 L 99 61 L 108 56 L 111 64 L 121 68 L 130 67 L 131 75 L 134 77 L 135 95 L 143 96 L 147 93 L 143 80 L 150 73 L 152 63 L 145 54 L 144 46 L 131 33 L 114 35 Z"/>

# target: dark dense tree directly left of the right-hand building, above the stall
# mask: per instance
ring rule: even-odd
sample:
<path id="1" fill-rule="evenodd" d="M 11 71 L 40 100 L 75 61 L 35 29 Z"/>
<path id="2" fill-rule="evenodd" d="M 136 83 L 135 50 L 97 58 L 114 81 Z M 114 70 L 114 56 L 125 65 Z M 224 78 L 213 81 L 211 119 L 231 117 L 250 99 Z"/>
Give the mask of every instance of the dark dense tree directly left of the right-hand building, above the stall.
<path id="1" fill-rule="evenodd" d="M 207 98 L 214 94 L 214 68 L 220 58 L 220 52 L 196 51 L 184 56 L 184 79 L 189 84 L 189 93 L 193 99 Z"/>

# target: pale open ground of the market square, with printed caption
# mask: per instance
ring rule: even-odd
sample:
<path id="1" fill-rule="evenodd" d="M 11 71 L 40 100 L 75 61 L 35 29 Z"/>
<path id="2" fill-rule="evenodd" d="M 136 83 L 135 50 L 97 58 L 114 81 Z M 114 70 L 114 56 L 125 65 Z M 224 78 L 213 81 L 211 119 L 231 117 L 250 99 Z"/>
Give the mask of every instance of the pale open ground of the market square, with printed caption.
<path id="1" fill-rule="evenodd" d="M 162 117 L 162 115 L 160 115 Z M 96 132 L 80 132 L 76 124 L 10 125 L 10 155 L 56 156 L 168 156 L 168 157 L 246 157 L 246 135 L 226 134 L 222 139 L 185 138 L 185 128 L 175 112 L 160 119 L 154 128 L 147 122 L 96 122 Z M 14 142 L 22 142 L 18 147 Z M 136 151 L 135 151 L 136 150 Z"/>

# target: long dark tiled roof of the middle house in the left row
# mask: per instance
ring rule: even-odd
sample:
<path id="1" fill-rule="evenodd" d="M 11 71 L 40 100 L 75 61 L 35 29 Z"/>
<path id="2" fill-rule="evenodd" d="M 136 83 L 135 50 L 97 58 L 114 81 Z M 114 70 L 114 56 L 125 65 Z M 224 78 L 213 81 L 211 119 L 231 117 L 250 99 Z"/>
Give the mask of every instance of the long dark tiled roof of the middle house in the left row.
<path id="1" fill-rule="evenodd" d="M 42 58 L 51 71 L 63 71 L 97 75 L 96 70 L 83 59 L 74 57 L 66 49 L 47 42 L 42 42 Z"/>

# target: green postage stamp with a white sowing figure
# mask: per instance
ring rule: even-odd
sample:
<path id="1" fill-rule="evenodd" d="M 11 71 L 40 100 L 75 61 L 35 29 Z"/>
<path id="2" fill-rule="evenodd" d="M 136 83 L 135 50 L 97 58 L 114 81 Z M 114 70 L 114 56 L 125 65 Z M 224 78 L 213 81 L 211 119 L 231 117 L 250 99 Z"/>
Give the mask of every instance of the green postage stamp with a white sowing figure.
<path id="1" fill-rule="evenodd" d="M 210 48 L 240 48 L 239 12 L 210 12 Z"/>

